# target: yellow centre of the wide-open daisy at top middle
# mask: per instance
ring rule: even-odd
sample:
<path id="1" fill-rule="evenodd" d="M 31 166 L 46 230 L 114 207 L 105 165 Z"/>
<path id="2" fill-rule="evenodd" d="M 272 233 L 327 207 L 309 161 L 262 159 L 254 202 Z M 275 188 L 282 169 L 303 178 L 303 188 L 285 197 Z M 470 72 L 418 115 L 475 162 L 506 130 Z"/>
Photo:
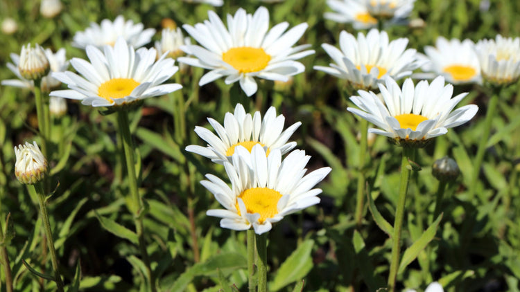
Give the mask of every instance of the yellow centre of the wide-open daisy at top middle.
<path id="1" fill-rule="evenodd" d="M 266 68 L 271 60 L 271 56 L 263 51 L 263 48 L 241 46 L 230 48 L 229 51 L 223 53 L 222 60 L 233 66 L 240 73 L 251 73 Z"/>

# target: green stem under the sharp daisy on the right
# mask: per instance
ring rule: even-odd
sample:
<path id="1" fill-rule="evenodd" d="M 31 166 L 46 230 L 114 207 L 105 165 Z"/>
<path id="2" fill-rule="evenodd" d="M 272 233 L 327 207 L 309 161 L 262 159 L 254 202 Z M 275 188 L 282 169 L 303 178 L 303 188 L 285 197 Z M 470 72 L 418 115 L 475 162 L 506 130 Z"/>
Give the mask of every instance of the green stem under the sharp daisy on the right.
<path id="1" fill-rule="evenodd" d="M 394 235 L 392 236 L 392 256 L 390 259 L 390 275 L 388 275 L 388 286 L 390 291 L 395 291 L 397 281 L 397 270 L 399 269 L 399 255 L 401 253 L 401 229 L 403 227 L 404 208 L 406 203 L 406 192 L 408 192 L 408 181 L 410 180 L 410 170 L 408 169 L 408 158 L 413 157 L 415 149 L 403 147 L 403 157 L 401 158 L 401 183 L 399 186 L 399 199 L 395 210 Z"/>

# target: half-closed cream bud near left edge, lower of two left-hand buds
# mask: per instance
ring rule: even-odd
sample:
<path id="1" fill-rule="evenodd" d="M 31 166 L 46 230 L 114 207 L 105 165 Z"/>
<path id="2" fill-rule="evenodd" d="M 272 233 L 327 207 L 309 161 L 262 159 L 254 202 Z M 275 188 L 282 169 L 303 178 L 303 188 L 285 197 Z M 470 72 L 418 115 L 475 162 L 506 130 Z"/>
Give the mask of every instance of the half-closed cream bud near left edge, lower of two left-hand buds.
<path id="1" fill-rule="evenodd" d="M 15 155 L 15 174 L 20 183 L 32 185 L 44 178 L 47 161 L 36 142 L 15 146 Z"/>

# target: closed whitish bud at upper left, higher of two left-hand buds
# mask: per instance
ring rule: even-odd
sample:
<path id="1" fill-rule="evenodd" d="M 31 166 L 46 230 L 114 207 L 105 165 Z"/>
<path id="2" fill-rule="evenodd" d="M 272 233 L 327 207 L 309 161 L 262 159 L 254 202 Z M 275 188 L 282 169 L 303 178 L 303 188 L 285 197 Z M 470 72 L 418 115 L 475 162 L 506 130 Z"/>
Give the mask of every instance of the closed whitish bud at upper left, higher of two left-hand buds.
<path id="1" fill-rule="evenodd" d="M 35 48 L 31 48 L 31 44 L 21 47 L 20 61 L 18 69 L 21 77 L 27 80 L 37 80 L 49 73 L 49 60 L 45 56 L 45 51 L 41 46 L 36 44 Z"/>

